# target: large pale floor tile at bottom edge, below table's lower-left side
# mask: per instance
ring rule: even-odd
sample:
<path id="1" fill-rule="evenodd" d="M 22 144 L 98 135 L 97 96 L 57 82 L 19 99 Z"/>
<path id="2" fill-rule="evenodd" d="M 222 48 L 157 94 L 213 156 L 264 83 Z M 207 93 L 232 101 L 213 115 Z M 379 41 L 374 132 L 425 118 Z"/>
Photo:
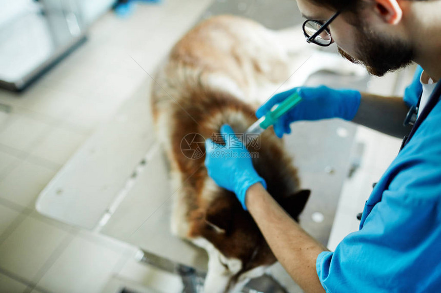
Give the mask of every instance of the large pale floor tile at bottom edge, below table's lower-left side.
<path id="1" fill-rule="evenodd" d="M 52 292 L 99 292 L 120 257 L 104 246 L 76 237 L 37 285 Z"/>

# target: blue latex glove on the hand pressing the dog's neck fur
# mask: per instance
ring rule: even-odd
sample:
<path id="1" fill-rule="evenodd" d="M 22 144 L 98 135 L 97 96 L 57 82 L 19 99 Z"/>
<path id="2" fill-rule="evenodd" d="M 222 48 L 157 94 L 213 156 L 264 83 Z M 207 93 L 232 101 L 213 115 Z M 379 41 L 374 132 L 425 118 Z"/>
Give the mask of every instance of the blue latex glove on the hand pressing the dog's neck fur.
<path id="1" fill-rule="evenodd" d="M 205 143 L 205 167 L 214 182 L 236 194 L 244 210 L 245 195 L 248 188 L 255 183 L 262 183 L 267 188 L 265 180 L 254 170 L 251 154 L 237 139 L 229 125 L 220 127 L 220 133 L 226 145 L 220 145 L 207 139 Z"/>

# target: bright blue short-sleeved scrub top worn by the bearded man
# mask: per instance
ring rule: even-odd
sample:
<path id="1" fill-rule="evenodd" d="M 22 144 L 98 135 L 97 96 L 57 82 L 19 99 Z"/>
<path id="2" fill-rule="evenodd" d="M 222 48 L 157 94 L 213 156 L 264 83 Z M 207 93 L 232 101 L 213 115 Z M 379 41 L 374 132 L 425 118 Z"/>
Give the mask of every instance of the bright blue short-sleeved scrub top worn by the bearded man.
<path id="1" fill-rule="evenodd" d="M 421 72 L 408 105 L 422 91 Z M 441 103 L 380 178 L 359 231 L 320 253 L 316 269 L 327 292 L 441 292 Z"/>

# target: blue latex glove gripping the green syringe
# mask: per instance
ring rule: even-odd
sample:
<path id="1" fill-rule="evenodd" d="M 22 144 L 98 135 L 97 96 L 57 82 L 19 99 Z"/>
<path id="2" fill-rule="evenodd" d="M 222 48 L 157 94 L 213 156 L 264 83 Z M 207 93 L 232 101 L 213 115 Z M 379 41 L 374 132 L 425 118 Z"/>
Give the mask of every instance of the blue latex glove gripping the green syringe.
<path id="1" fill-rule="evenodd" d="M 362 98 L 360 92 L 353 89 L 332 89 L 327 86 L 294 87 L 289 91 L 274 95 L 256 111 L 257 118 L 264 116 L 275 104 L 279 104 L 291 94 L 297 92 L 302 101 L 273 125 L 277 137 L 291 133 L 290 123 L 299 120 L 320 120 L 342 118 L 352 120 Z"/>

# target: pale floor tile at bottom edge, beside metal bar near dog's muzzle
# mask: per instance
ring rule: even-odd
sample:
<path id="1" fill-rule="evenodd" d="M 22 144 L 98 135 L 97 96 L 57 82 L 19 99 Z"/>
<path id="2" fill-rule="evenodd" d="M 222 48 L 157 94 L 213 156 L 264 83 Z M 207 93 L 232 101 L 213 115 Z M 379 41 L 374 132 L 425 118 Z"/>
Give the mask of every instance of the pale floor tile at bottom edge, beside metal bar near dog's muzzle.
<path id="1" fill-rule="evenodd" d="M 129 259 L 118 276 L 135 281 L 144 286 L 164 293 L 182 292 L 184 289 L 181 277 L 151 265 Z"/>

